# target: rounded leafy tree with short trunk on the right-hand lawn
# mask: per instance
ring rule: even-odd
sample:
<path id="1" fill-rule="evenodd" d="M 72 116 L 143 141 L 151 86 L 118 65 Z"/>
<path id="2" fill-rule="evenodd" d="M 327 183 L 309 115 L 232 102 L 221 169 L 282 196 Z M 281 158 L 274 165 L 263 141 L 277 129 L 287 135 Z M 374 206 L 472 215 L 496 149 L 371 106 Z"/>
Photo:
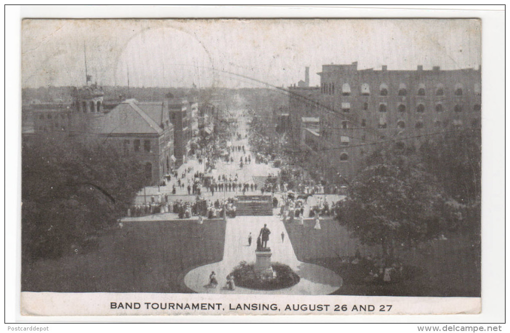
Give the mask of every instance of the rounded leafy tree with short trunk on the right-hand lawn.
<path id="1" fill-rule="evenodd" d="M 431 221 L 443 221 L 444 196 L 412 151 L 382 151 L 351 182 L 342 218 L 355 236 L 379 244 L 385 267 L 397 244 L 423 240 Z"/>

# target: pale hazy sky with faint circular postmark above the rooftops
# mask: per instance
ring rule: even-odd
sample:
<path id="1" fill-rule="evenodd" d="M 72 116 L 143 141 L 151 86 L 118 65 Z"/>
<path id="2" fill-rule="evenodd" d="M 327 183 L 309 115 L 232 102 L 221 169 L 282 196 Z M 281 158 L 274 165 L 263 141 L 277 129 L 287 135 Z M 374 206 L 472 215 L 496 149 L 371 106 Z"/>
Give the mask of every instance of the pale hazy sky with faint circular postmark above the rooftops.
<path id="1" fill-rule="evenodd" d="M 319 84 L 324 64 L 478 68 L 476 19 L 25 19 L 22 87 Z M 128 74 L 129 73 L 129 74 Z"/>

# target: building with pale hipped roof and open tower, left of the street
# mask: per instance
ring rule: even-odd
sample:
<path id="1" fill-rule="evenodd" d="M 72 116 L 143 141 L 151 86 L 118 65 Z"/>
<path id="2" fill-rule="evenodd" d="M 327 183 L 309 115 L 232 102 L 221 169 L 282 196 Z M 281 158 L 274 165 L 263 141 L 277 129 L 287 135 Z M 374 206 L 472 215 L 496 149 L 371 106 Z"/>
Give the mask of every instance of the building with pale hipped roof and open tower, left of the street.
<path id="1" fill-rule="evenodd" d="M 75 89 L 73 97 L 72 105 L 32 106 L 35 136 L 73 137 L 88 145 L 108 145 L 139 161 L 151 185 L 175 167 L 168 103 L 127 99 L 104 110 L 103 92 L 94 85 Z"/>

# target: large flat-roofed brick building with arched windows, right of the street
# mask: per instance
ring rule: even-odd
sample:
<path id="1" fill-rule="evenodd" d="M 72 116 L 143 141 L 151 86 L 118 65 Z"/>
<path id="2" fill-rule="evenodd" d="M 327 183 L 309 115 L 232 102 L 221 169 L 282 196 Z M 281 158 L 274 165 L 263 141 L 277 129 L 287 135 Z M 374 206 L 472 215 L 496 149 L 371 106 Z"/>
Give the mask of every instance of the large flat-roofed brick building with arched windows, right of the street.
<path id="1" fill-rule="evenodd" d="M 481 68 L 358 69 L 323 65 L 319 87 L 289 87 L 294 149 L 316 153 L 327 172 L 352 177 L 382 144 L 414 146 L 481 123 Z M 319 129 L 310 120 L 318 118 Z"/>

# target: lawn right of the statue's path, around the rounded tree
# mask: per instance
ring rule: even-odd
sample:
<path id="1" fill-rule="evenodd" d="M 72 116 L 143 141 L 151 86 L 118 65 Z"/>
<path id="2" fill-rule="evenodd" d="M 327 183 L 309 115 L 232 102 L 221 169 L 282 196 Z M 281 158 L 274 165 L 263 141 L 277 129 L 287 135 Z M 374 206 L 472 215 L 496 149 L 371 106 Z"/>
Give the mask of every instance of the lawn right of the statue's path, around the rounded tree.
<path id="1" fill-rule="evenodd" d="M 480 296 L 479 250 L 461 236 L 447 235 L 448 240 L 433 241 L 429 253 L 420 249 L 400 250 L 400 260 L 416 273 L 399 283 L 379 284 L 364 281 L 366 275 L 356 274 L 356 265 L 341 263 L 342 258 L 354 256 L 356 249 L 363 256 L 380 255 L 378 247 L 361 244 L 347 227 L 334 220 L 321 221 L 320 230 L 313 228 L 313 221 L 305 221 L 304 227 L 297 223 L 285 226 L 300 261 L 324 266 L 342 277 L 343 286 L 334 294 Z"/>

